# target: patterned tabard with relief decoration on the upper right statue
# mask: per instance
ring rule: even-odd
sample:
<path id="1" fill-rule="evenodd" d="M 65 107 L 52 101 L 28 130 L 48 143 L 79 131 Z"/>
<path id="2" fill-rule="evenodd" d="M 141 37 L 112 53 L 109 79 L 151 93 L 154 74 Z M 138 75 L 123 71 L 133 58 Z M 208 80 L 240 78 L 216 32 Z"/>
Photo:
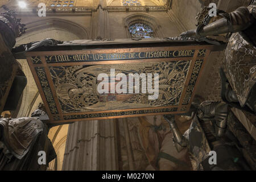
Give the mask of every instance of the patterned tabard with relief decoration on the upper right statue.
<path id="1" fill-rule="evenodd" d="M 255 84 L 256 48 L 242 38 L 232 34 L 222 60 L 224 72 L 236 92 L 241 105 L 245 105 L 250 90 Z"/>

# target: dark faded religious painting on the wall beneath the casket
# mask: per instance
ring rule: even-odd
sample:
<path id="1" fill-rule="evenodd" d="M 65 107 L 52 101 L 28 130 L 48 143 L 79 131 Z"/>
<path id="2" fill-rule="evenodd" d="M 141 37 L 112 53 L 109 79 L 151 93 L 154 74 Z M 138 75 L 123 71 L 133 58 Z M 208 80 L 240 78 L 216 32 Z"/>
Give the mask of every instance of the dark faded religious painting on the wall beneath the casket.
<path id="1" fill-rule="evenodd" d="M 181 131 L 187 130 L 189 123 L 181 123 Z M 117 125 L 121 170 L 192 170 L 187 149 L 177 152 L 170 127 L 162 116 L 118 119 Z"/>

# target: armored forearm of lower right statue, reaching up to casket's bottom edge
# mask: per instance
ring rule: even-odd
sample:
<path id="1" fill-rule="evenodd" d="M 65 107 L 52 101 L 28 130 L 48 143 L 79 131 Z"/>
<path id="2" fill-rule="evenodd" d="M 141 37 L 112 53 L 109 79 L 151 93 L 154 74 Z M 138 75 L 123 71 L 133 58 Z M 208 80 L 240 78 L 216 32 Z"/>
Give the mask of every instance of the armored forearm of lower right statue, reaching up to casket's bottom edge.
<path id="1" fill-rule="evenodd" d="M 170 125 L 170 129 L 172 131 L 172 135 L 174 135 L 174 145 L 178 152 L 183 150 L 185 147 L 187 147 L 187 140 L 185 137 L 181 134 L 180 130 L 178 129 L 174 115 L 163 115 L 164 119 L 168 122 Z"/>

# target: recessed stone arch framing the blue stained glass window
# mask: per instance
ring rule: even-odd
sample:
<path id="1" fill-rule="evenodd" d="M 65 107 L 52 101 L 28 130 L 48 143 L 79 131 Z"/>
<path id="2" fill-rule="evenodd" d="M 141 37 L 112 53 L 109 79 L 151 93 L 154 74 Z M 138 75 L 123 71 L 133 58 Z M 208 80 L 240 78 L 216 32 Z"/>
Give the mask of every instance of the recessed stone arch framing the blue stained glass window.
<path id="1" fill-rule="evenodd" d="M 163 38 L 162 27 L 156 23 L 156 19 L 152 16 L 146 14 L 133 14 L 127 16 L 124 20 L 125 30 L 127 34 L 127 38 L 131 38 L 130 32 L 128 28 L 134 23 L 144 23 L 150 26 L 154 30 L 154 36 L 156 38 Z"/>

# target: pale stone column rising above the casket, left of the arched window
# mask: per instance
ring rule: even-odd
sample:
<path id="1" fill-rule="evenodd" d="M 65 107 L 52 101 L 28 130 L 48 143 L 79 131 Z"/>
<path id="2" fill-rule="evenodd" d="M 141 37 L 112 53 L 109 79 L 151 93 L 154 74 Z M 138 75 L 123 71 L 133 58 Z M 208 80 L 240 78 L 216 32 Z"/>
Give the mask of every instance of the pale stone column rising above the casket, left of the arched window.
<path id="1" fill-rule="evenodd" d="M 91 20 L 91 38 L 110 38 L 109 14 L 106 0 L 93 1 L 93 12 Z"/>

